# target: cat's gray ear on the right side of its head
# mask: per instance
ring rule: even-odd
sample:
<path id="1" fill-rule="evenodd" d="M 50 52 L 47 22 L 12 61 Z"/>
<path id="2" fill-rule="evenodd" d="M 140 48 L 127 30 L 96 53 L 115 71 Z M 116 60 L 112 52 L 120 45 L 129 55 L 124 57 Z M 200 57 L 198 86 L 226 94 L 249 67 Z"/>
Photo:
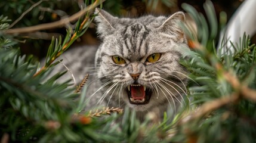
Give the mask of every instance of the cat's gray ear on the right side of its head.
<path id="1" fill-rule="evenodd" d="M 164 23 L 158 27 L 158 30 L 168 35 L 175 35 L 179 41 L 184 41 L 185 35 L 181 28 L 181 23 L 185 22 L 185 14 L 183 12 L 177 12 L 168 17 Z"/>

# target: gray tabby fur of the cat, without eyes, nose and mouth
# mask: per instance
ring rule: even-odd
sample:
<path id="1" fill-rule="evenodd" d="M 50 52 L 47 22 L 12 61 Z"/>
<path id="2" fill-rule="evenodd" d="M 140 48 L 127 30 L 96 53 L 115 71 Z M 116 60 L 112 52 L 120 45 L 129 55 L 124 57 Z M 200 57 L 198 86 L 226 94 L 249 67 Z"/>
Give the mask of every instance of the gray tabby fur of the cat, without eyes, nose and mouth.
<path id="1" fill-rule="evenodd" d="M 87 92 L 88 108 L 95 105 L 128 106 L 143 120 L 149 111 L 161 119 L 164 111 L 174 110 L 180 105 L 187 83 L 186 70 L 179 64 L 182 51 L 187 48 L 184 33 L 178 26 L 180 21 L 184 21 L 184 14 L 118 18 L 103 10 L 97 9 L 95 13 L 98 13 L 95 21 L 102 41 L 98 49 L 93 46 L 75 48 L 63 55 L 68 61 L 65 63 L 64 60 L 64 64 L 77 80 L 81 80 L 90 73 L 87 67 L 92 64 L 88 61 L 92 61 L 97 49 L 95 70 L 91 72 L 91 81 L 87 82 L 91 83 Z M 161 58 L 155 63 L 147 62 L 147 57 L 155 53 L 161 53 Z M 113 55 L 124 58 L 126 63 L 115 64 Z M 148 104 L 131 104 L 128 100 L 127 87 L 135 82 L 130 74 L 136 73 L 140 73 L 136 84 L 144 85 L 153 92 Z"/>

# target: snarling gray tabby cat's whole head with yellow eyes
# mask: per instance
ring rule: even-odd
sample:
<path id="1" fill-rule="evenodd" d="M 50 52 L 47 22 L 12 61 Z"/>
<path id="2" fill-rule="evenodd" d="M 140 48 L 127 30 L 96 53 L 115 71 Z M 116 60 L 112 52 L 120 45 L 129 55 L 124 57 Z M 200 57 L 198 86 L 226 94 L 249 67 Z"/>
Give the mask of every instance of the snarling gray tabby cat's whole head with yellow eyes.
<path id="1" fill-rule="evenodd" d="M 137 111 L 181 102 L 186 70 L 179 61 L 187 43 L 179 24 L 184 14 L 118 18 L 103 10 L 96 13 L 102 43 L 95 66 L 103 96 Z"/>

